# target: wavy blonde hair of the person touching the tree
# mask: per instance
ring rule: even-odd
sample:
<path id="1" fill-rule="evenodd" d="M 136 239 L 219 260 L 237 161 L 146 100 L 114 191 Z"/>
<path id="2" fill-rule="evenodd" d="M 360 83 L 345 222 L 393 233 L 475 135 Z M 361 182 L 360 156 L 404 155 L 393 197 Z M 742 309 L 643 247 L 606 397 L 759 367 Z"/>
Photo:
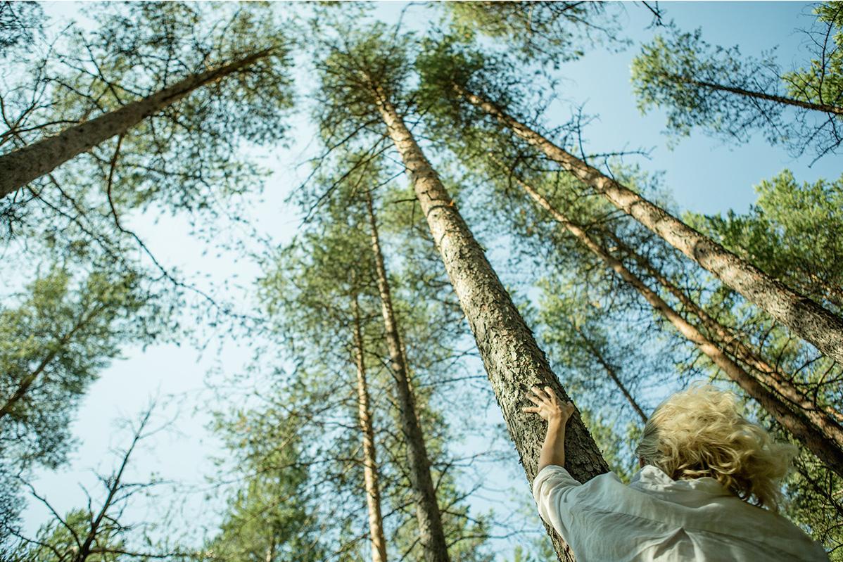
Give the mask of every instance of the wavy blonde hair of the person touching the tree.
<path id="1" fill-rule="evenodd" d="M 796 453 L 746 420 L 733 393 L 711 385 L 692 386 L 659 404 L 636 447 L 644 463 L 674 480 L 710 476 L 741 500 L 772 511 Z"/>

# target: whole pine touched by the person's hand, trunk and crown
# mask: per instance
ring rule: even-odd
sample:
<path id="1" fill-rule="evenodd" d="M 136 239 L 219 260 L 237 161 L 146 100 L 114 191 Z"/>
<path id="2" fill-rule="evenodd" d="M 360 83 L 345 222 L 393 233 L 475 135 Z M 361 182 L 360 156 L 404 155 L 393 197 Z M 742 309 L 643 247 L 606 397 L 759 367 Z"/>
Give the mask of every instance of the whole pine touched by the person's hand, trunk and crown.
<path id="1" fill-rule="evenodd" d="M 406 46 L 384 40 L 383 29 L 358 35 L 353 44 L 328 45 L 321 62 L 322 91 L 330 99 L 320 115 L 323 123 L 357 118 L 341 130 L 359 130 L 359 123 L 378 119 L 395 144 L 416 192 L 421 213 L 442 256 L 465 317 L 481 352 L 491 386 L 529 480 L 534 479 L 542 428 L 521 412 L 524 392 L 531 386 L 549 386 L 568 399 L 524 319 L 515 308 L 480 244 L 460 216 L 431 163 L 408 128 L 399 109 L 402 81 L 408 72 Z M 341 35 L 345 35 L 341 33 Z M 327 128 L 327 125 L 323 125 Z M 352 133 L 353 134 L 353 133 Z M 575 415 L 566 432 L 567 467 L 580 481 L 608 468 L 588 430 Z M 557 553 L 571 554 L 558 538 Z"/>

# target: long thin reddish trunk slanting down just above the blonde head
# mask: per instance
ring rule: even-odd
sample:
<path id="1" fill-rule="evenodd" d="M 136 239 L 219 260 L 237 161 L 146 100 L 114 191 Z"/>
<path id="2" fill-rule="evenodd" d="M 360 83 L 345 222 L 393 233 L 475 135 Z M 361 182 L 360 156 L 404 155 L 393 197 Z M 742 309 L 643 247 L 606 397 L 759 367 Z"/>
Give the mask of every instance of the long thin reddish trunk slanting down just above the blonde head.
<path id="1" fill-rule="evenodd" d="M 652 291 L 641 278 L 628 270 L 620 260 L 617 260 L 603 249 L 582 227 L 565 217 L 561 211 L 550 204 L 550 201 L 547 201 L 532 186 L 520 179 L 517 179 L 517 181 L 539 206 L 550 212 L 550 215 L 556 222 L 559 222 L 562 227 L 565 227 L 569 233 L 572 233 L 594 255 L 598 256 L 600 260 L 603 260 L 610 269 L 614 270 L 624 281 L 634 287 L 637 292 L 641 293 L 642 297 L 652 305 L 652 308 L 655 308 L 664 318 L 667 318 L 670 324 L 673 324 L 674 328 L 679 330 L 680 334 L 684 335 L 687 340 L 693 342 L 717 367 L 720 367 L 729 378 L 737 383 L 740 388 L 743 388 L 745 393 L 749 394 L 762 408 L 766 409 L 782 427 L 789 431 L 792 436 L 796 437 L 799 442 L 802 442 L 808 450 L 817 455 L 831 470 L 843 476 L 843 447 L 838 447 L 835 441 L 825 435 L 824 431 L 819 427 L 811 423 L 802 411 L 791 409 L 776 393 L 766 388 L 756 377 L 744 371 L 743 367 L 740 367 L 738 363 L 733 361 L 716 344 L 706 338 L 693 324 L 682 318 L 662 297 L 659 297 L 656 292 Z"/>

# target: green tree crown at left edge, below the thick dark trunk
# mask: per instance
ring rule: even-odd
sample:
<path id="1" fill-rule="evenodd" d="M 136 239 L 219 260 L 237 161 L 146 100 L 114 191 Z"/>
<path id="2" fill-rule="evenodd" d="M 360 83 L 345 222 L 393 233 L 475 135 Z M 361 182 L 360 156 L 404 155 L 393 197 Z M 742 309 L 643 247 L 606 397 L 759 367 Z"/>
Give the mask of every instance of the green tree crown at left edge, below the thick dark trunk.
<path id="1" fill-rule="evenodd" d="M 70 416 L 126 340 L 154 337 L 139 314 L 146 295 L 132 275 L 107 270 L 74 281 L 54 267 L 0 310 L 0 439 L 24 466 L 56 467 L 71 444 Z"/>

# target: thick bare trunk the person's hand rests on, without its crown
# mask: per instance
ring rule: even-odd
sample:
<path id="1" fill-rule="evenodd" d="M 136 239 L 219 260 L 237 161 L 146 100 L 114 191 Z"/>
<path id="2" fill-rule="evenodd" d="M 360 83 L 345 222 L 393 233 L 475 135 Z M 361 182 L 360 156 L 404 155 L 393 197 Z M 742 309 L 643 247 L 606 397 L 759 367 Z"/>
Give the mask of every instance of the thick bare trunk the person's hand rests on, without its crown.
<path id="1" fill-rule="evenodd" d="M 532 482 L 545 428 L 538 416 L 521 411 L 527 404 L 524 393 L 532 386 L 549 386 L 562 400 L 568 400 L 567 393 L 395 105 L 383 90 L 375 88 L 373 94 L 389 136 L 410 172 L 416 198 L 474 333 L 509 435 Z M 565 468 L 580 482 L 609 470 L 578 413 L 568 422 L 565 452 Z M 548 532 L 559 558 L 572 560 L 570 548 L 550 528 Z"/>

